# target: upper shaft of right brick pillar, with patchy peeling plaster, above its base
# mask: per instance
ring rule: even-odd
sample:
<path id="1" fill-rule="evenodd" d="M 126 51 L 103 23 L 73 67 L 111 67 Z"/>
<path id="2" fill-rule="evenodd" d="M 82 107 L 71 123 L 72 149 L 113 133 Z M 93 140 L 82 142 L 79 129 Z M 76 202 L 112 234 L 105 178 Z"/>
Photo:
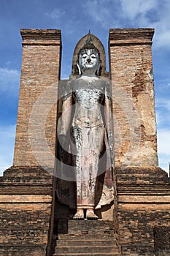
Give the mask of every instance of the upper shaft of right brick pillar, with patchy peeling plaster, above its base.
<path id="1" fill-rule="evenodd" d="M 110 29 L 116 166 L 158 166 L 152 75 L 154 29 Z"/>

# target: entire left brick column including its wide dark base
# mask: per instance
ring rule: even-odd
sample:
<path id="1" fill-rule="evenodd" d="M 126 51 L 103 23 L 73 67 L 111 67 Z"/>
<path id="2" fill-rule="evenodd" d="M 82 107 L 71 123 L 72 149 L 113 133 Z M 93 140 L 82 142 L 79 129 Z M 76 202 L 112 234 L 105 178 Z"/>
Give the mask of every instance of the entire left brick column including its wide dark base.
<path id="1" fill-rule="evenodd" d="M 21 29 L 21 35 L 14 165 L 0 179 L 0 255 L 51 255 L 61 31 Z"/>

